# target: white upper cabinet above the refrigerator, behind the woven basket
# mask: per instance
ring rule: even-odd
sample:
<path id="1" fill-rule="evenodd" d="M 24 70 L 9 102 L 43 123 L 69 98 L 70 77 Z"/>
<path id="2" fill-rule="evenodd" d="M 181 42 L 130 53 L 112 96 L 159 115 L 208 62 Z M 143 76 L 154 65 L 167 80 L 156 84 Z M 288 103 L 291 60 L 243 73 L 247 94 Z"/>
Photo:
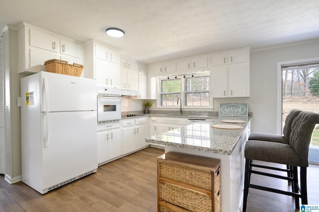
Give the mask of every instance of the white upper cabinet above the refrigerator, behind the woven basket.
<path id="1" fill-rule="evenodd" d="M 83 65 L 83 45 L 53 32 L 23 23 L 18 30 L 18 72 L 45 71 L 44 62 L 57 59 Z"/>

